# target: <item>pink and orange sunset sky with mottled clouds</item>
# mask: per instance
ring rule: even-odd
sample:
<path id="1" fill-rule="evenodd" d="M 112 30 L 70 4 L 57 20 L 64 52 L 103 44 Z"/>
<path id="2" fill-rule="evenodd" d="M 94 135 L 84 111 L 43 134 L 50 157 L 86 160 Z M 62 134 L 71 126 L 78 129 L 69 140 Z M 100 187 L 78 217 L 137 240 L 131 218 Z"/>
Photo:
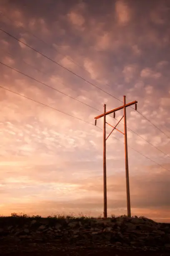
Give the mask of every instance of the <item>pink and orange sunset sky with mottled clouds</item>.
<path id="1" fill-rule="evenodd" d="M 103 215 L 94 118 L 125 95 L 142 114 L 127 108 L 131 213 L 170 222 L 169 24 L 168 0 L 0 0 L 1 215 Z M 107 212 L 124 215 L 124 136 L 106 148 Z"/>

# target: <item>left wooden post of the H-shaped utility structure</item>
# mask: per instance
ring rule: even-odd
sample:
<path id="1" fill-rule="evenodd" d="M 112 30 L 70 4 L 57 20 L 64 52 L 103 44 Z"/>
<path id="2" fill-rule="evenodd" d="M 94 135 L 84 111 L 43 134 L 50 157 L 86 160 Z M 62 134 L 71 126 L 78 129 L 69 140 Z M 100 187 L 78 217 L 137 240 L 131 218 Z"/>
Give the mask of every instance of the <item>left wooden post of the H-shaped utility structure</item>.
<path id="1" fill-rule="evenodd" d="M 106 104 L 104 104 L 104 114 L 106 113 Z M 106 115 L 103 123 L 103 192 L 104 192 L 104 218 L 107 218 L 107 184 L 106 184 Z"/>

